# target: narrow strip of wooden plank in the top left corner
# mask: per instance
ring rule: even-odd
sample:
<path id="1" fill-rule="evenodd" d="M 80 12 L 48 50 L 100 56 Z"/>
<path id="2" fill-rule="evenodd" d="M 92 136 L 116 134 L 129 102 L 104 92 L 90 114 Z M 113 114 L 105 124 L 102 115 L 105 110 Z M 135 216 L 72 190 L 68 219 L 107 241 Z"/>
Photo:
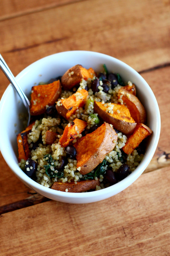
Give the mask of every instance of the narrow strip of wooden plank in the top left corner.
<path id="1" fill-rule="evenodd" d="M 82 0 L 1 0 L 0 20 L 40 12 Z"/>

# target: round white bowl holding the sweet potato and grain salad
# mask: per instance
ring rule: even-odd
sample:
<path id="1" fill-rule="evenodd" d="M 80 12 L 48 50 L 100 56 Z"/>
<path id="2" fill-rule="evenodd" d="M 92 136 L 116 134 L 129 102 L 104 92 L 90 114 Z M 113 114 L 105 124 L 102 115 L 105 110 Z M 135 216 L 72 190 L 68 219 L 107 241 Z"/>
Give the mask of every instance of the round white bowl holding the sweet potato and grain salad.
<path id="1" fill-rule="evenodd" d="M 88 193 L 62 192 L 44 187 L 29 178 L 18 167 L 18 148 L 15 131 L 18 130 L 17 133 L 19 133 L 23 129 L 19 120 L 19 113 L 24 110 L 24 106 L 21 102 L 19 103 L 20 98 L 11 84 L 2 96 L 0 101 L 1 153 L 7 165 L 22 182 L 45 197 L 66 203 L 91 203 L 114 196 L 130 186 L 141 175 L 154 155 L 160 134 L 160 113 L 156 98 L 147 82 L 133 68 L 122 61 L 96 52 L 62 52 L 32 63 L 16 76 L 16 80 L 29 97 L 31 87 L 35 83 L 38 84 L 41 81 L 48 81 L 53 77 L 63 75 L 70 67 L 76 64 L 81 64 L 85 68 L 92 67 L 95 71 L 101 71 L 104 63 L 110 72 L 119 73 L 124 81 L 131 81 L 136 85 L 137 96 L 146 108 L 147 124 L 153 130 L 153 134 L 148 140 L 146 155 L 135 171 L 117 184 L 98 191 Z M 17 124 L 17 126 L 15 127 L 14 124 Z"/>

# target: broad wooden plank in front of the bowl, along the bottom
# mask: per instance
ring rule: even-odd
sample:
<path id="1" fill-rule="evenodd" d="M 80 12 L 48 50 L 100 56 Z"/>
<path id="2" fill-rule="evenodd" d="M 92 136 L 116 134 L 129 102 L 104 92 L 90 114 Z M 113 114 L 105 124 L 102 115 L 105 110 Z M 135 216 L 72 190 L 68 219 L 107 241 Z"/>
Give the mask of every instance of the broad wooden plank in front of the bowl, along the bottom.
<path id="1" fill-rule="evenodd" d="M 1 255 L 169 255 L 169 182 L 164 168 L 100 202 L 49 201 L 2 214 Z"/>

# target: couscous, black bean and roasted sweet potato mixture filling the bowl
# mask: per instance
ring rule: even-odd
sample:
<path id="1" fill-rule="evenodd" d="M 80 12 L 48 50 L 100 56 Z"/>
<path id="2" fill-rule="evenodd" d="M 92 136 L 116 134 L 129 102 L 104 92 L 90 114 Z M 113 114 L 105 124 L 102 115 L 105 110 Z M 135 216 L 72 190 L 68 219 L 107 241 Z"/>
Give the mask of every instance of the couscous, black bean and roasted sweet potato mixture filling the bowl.
<path id="1" fill-rule="evenodd" d="M 145 154 L 146 111 L 120 74 L 75 65 L 32 87 L 30 125 L 17 136 L 19 166 L 39 184 L 66 192 L 118 183 Z M 123 75 L 123 74 L 122 74 Z"/>

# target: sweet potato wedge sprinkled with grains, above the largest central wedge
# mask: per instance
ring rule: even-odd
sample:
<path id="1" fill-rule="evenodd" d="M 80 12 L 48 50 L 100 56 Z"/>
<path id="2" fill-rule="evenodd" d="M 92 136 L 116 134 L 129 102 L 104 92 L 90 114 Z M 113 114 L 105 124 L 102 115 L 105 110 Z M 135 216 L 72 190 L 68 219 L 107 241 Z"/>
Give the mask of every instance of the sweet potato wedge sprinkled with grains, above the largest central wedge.
<path id="1" fill-rule="evenodd" d="M 129 109 L 124 105 L 115 103 L 102 104 L 101 102 L 95 101 L 94 112 L 98 113 L 105 122 L 112 124 L 113 128 L 125 134 L 132 134 L 136 127 L 136 123 L 131 117 Z"/>

